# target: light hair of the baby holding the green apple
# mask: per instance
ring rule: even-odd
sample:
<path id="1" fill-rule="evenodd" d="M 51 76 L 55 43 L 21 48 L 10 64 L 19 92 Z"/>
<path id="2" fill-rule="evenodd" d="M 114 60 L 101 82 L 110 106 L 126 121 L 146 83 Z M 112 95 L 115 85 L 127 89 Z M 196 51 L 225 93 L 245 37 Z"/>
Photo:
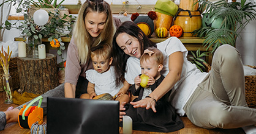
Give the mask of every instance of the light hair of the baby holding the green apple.
<path id="1" fill-rule="evenodd" d="M 140 57 L 140 63 L 141 62 L 146 62 L 149 60 L 149 58 L 152 58 L 153 60 L 156 61 L 157 64 L 164 64 L 164 55 L 162 54 L 162 52 L 157 49 L 157 48 L 148 48 L 148 51 L 152 51 L 151 52 L 144 52 L 144 54 L 141 55 Z"/>

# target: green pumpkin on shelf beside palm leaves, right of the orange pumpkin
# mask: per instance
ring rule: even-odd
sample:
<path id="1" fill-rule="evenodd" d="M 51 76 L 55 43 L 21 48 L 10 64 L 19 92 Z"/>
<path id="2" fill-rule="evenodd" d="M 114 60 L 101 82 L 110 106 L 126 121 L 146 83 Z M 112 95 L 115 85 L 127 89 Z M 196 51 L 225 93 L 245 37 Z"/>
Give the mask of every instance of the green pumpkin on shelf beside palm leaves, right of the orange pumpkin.
<path id="1" fill-rule="evenodd" d="M 219 29 L 223 18 L 215 19 L 215 16 L 211 16 L 209 13 L 203 14 L 202 25 L 203 27 L 213 27 Z"/>

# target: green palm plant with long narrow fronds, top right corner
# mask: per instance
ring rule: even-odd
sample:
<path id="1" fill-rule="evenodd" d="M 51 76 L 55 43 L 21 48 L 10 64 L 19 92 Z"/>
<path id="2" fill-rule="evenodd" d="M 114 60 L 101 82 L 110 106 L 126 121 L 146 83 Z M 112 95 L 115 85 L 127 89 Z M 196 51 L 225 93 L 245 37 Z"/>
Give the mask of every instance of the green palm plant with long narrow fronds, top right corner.
<path id="1" fill-rule="evenodd" d="M 213 52 L 221 44 L 235 46 L 236 38 L 241 31 L 256 17 L 256 4 L 251 0 L 241 0 L 241 2 L 200 0 L 198 2 L 200 2 L 200 10 L 205 9 L 209 18 L 212 18 L 209 23 L 219 21 L 218 27 L 205 26 L 193 32 L 198 37 L 205 38 L 203 45 L 207 46 L 207 49 L 212 46 Z"/>

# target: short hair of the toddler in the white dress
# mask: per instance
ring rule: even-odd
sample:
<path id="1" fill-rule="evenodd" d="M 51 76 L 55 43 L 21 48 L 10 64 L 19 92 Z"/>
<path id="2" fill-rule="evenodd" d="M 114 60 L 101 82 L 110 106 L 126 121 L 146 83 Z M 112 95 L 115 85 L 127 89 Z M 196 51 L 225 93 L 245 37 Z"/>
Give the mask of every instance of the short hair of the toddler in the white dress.
<path id="1" fill-rule="evenodd" d="M 101 42 L 98 46 L 91 48 L 91 58 L 96 56 L 99 58 L 99 56 L 104 57 L 105 59 L 110 59 L 112 57 L 112 48 L 110 44 L 106 42 Z"/>

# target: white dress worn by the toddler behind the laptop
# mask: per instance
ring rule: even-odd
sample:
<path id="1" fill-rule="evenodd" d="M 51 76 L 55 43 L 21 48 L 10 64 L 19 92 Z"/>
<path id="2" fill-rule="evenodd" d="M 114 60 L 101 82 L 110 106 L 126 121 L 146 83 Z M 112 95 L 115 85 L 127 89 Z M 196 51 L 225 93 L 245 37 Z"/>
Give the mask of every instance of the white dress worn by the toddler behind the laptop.
<path id="1" fill-rule="evenodd" d="M 89 69 L 86 73 L 86 79 L 94 84 L 94 90 L 97 95 L 110 93 L 115 96 L 122 88 L 123 83 L 116 87 L 115 68 L 110 66 L 107 72 L 99 73 L 94 69 Z"/>

